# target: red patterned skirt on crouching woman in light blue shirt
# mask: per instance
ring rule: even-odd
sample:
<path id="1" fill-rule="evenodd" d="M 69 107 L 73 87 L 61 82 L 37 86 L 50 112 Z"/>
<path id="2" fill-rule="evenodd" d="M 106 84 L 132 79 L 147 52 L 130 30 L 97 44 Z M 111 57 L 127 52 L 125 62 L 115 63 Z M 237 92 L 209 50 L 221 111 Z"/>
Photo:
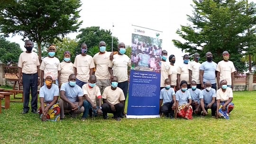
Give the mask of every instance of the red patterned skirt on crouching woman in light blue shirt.
<path id="1" fill-rule="evenodd" d="M 185 110 L 186 106 L 187 106 L 187 104 L 181 104 L 181 105 L 178 106 L 178 110 L 177 110 L 178 117 L 183 117 L 183 118 L 186 118 L 186 119 L 193 119 L 193 117 L 192 117 L 192 113 L 193 113 L 192 106 L 190 105 L 189 108 L 187 110 Z"/>

